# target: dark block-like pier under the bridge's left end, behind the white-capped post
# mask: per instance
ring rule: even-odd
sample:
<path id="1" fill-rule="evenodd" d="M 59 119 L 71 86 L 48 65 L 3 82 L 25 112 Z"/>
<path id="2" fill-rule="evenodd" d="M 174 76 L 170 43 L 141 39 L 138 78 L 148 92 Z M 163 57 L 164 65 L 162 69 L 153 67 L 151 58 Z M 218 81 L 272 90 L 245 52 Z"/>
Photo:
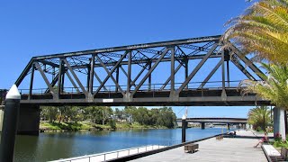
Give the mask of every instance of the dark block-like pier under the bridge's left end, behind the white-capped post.
<path id="1" fill-rule="evenodd" d="M 20 104 L 17 134 L 39 135 L 40 106 Z"/>

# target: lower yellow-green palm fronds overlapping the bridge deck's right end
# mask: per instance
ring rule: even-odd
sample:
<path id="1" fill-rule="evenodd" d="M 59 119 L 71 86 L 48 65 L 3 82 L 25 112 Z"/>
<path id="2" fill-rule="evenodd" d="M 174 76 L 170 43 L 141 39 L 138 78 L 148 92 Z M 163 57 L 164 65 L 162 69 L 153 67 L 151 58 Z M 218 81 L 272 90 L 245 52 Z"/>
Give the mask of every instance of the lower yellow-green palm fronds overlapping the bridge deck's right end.
<path id="1" fill-rule="evenodd" d="M 277 66 L 261 63 L 268 73 L 263 75 L 265 81 L 243 80 L 240 86 L 243 93 L 256 93 L 258 96 L 271 101 L 277 107 L 288 110 L 288 66 Z"/>

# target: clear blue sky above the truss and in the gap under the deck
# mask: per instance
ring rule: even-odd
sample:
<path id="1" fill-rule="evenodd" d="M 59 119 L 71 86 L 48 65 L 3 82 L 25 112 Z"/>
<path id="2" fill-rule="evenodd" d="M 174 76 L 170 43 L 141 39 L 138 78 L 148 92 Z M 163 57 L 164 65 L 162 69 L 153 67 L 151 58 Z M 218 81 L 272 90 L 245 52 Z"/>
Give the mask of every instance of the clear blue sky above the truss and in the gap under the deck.
<path id="1" fill-rule="evenodd" d="M 0 88 L 33 56 L 217 35 L 245 0 L 1 1 Z M 250 107 L 190 107 L 189 116 L 246 117 Z M 182 116 L 183 107 L 175 107 Z"/>

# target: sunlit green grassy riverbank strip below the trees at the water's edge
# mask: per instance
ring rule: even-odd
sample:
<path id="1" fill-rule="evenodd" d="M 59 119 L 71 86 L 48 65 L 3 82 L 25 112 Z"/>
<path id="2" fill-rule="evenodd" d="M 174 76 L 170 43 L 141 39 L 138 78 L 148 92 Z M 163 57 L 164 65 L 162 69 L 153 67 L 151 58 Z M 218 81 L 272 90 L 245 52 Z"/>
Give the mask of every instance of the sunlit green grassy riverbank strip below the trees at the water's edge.
<path id="1" fill-rule="evenodd" d="M 40 132 L 49 131 L 89 131 L 89 130 L 129 130 L 129 129 L 167 129 L 163 126 L 151 126 L 140 125 L 139 123 L 121 123 L 116 122 L 115 128 L 112 128 L 109 124 L 95 124 L 91 121 L 79 121 L 79 122 L 48 122 L 40 121 Z"/>

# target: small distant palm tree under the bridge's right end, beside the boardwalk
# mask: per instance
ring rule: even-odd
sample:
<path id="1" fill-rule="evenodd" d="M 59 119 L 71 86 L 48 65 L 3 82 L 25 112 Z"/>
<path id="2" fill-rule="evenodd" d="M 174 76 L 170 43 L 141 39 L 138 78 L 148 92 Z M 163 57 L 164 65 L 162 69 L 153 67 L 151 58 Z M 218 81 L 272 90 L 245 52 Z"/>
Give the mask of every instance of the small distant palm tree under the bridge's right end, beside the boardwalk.
<path id="1" fill-rule="evenodd" d="M 260 106 L 251 109 L 248 112 L 248 123 L 253 125 L 253 128 L 266 130 L 266 126 L 271 122 L 271 111 L 266 106 Z"/>

